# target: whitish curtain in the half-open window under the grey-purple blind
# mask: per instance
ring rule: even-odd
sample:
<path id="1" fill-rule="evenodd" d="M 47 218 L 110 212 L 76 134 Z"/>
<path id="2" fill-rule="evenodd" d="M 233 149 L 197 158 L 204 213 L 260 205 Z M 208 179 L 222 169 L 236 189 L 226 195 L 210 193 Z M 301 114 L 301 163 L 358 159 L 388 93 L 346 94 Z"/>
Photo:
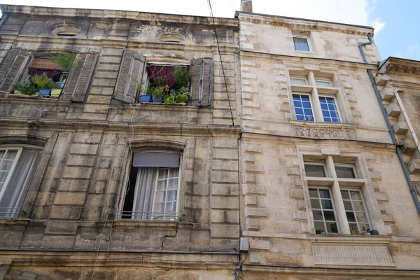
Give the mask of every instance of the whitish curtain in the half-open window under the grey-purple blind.
<path id="1" fill-rule="evenodd" d="M 139 167 L 134 193 L 132 218 L 151 220 L 158 167 Z"/>

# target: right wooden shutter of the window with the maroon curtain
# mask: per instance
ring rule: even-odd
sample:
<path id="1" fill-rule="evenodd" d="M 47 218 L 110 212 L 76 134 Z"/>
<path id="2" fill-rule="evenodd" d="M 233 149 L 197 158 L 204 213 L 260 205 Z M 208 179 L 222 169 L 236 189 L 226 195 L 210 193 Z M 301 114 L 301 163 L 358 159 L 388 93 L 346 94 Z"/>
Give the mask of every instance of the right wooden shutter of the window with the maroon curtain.
<path id="1" fill-rule="evenodd" d="M 191 105 L 206 107 L 211 105 L 213 80 L 213 59 L 209 57 L 193 59 L 191 71 Z"/>

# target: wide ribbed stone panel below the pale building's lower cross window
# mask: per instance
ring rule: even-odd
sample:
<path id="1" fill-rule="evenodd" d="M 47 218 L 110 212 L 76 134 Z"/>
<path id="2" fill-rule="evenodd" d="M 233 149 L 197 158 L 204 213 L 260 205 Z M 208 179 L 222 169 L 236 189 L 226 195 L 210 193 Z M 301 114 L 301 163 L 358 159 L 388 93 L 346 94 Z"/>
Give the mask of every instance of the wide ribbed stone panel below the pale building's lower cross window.
<path id="1" fill-rule="evenodd" d="M 316 265 L 393 266 L 388 246 L 314 245 Z"/>

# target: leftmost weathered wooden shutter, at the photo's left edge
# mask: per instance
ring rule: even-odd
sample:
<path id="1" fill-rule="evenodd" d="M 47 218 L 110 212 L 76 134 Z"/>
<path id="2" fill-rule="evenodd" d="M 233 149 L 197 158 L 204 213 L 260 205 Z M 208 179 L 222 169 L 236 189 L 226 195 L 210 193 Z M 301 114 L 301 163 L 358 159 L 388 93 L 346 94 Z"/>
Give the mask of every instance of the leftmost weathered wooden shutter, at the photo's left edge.
<path id="1" fill-rule="evenodd" d="M 32 52 L 29 50 L 18 48 L 8 50 L 0 64 L 0 98 L 6 97 L 13 89 L 13 85 L 22 76 L 22 71 L 26 69 L 31 56 Z"/>

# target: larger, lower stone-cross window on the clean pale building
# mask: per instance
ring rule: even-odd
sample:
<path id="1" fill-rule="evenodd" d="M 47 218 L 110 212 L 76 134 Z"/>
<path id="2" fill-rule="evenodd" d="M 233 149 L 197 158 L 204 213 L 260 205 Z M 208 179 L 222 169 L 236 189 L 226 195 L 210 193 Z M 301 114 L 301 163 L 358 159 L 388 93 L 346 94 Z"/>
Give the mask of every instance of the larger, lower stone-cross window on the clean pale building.
<path id="1" fill-rule="evenodd" d="M 361 186 L 352 163 L 325 161 L 304 162 L 311 211 L 316 233 L 349 233 L 349 228 L 363 232 L 370 228 Z"/>

